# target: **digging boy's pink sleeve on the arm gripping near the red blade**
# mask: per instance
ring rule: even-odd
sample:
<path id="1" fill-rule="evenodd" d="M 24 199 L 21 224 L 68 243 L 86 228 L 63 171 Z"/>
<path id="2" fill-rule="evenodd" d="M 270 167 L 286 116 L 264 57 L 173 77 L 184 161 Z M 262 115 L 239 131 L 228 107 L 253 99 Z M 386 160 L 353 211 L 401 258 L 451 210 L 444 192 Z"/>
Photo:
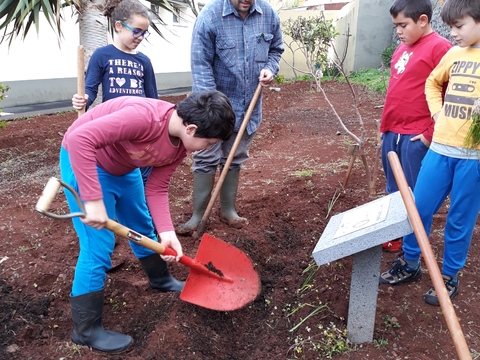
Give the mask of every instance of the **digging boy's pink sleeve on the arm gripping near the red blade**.
<path id="1" fill-rule="evenodd" d="M 145 185 L 147 205 L 159 233 L 173 230 L 168 203 L 168 187 L 175 169 L 185 157 L 186 153 L 167 166 L 154 167 Z"/>

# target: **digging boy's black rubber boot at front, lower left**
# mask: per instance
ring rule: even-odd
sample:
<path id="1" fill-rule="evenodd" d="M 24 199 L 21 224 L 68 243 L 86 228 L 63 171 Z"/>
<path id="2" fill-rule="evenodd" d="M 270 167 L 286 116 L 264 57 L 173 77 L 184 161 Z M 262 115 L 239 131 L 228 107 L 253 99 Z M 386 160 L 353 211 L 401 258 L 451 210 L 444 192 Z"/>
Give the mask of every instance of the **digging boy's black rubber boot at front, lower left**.
<path id="1" fill-rule="evenodd" d="M 103 289 L 79 296 L 70 296 L 75 344 L 86 345 L 94 350 L 122 353 L 133 343 L 133 339 L 102 326 Z"/>

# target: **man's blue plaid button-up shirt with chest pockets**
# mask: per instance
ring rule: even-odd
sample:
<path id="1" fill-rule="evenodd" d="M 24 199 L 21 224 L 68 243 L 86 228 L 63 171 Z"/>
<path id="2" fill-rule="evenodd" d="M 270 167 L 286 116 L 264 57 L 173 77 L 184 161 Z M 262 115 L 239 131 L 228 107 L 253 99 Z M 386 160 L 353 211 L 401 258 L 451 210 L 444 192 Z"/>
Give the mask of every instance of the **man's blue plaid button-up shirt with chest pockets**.
<path id="1" fill-rule="evenodd" d="M 278 73 L 284 51 L 280 19 L 264 0 L 255 0 L 245 20 L 230 0 L 212 0 L 200 12 L 192 35 L 193 92 L 219 90 L 228 96 L 238 131 L 262 69 Z M 250 135 L 262 120 L 262 98 L 247 125 Z"/>

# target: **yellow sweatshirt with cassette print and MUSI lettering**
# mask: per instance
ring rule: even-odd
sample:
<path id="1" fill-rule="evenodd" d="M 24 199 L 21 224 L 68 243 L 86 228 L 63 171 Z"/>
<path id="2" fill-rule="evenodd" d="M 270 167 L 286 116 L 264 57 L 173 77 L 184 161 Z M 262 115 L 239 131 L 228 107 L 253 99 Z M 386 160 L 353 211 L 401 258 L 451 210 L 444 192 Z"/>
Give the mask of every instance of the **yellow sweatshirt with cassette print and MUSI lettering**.
<path id="1" fill-rule="evenodd" d="M 442 107 L 442 85 L 447 81 Z M 465 147 L 473 103 L 480 97 L 480 48 L 451 48 L 427 78 L 425 95 L 432 116 L 440 111 L 433 142 Z"/>

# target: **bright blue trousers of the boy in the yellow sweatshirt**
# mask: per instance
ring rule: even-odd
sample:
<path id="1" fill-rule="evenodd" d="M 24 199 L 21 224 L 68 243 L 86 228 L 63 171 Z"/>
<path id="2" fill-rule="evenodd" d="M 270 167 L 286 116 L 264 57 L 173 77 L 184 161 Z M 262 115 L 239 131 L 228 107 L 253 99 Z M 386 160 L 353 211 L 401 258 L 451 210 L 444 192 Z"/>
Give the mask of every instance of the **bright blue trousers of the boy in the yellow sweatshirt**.
<path id="1" fill-rule="evenodd" d="M 455 276 L 467 260 L 473 229 L 480 211 L 480 163 L 456 159 L 429 150 L 415 187 L 415 205 L 427 236 L 433 215 L 450 194 L 445 224 L 442 274 Z M 406 260 L 418 260 L 420 247 L 415 234 L 403 237 Z"/>

